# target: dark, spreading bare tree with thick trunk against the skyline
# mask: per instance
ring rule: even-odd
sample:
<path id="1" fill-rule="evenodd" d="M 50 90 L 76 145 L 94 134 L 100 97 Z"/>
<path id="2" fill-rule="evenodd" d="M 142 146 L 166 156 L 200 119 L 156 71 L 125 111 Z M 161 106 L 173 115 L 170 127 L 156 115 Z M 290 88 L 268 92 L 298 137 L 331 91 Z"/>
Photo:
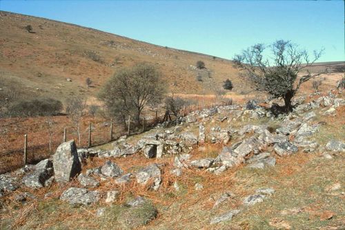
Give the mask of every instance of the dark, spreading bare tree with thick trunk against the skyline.
<path id="1" fill-rule="evenodd" d="M 242 76 L 249 79 L 255 86 L 255 90 L 263 91 L 272 98 L 284 99 L 284 111 L 292 111 L 291 99 L 295 96 L 299 87 L 309 79 L 320 75 L 312 75 L 306 70 L 306 75 L 299 78 L 297 74 L 304 68 L 312 66 L 323 50 L 314 51 L 311 59 L 308 52 L 300 49 L 290 41 L 275 41 L 266 52 L 264 44 L 256 44 L 243 50 L 241 54 L 235 55 L 235 66 L 244 70 Z"/>

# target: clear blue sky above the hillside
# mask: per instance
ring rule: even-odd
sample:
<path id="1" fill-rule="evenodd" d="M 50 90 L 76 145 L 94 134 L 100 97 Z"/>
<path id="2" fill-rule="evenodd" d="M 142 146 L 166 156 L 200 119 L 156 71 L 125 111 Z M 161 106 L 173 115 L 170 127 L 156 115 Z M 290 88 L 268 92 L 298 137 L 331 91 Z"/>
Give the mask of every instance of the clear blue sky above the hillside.
<path id="1" fill-rule="evenodd" d="M 152 44 L 232 59 L 289 39 L 319 61 L 344 61 L 344 1 L 17 1 L 0 10 L 75 23 Z"/>

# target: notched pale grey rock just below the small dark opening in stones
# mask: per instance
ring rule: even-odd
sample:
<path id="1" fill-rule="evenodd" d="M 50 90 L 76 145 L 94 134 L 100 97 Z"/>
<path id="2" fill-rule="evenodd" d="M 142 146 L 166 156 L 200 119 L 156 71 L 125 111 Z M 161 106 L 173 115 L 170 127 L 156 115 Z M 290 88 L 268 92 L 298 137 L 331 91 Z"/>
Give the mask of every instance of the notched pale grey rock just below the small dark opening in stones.
<path id="1" fill-rule="evenodd" d="M 159 189 L 161 184 L 161 170 L 157 164 L 151 164 L 146 168 L 141 169 L 137 175 L 135 175 L 135 177 L 137 178 L 137 182 L 139 184 L 147 184 L 147 182 L 152 179 L 153 182 L 151 188 L 155 191 Z"/>

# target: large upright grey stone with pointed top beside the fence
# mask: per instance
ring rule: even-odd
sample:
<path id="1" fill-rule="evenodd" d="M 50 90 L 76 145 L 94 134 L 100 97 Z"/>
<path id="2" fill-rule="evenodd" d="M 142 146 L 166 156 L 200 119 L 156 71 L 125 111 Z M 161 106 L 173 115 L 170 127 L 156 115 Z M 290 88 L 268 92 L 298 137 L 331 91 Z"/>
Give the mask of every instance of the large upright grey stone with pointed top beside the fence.
<path id="1" fill-rule="evenodd" d="M 52 157 L 54 165 L 55 180 L 57 182 L 68 182 L 81 172 L 77 146 L 74 140 L 64 142 L 57 147 Z"/>

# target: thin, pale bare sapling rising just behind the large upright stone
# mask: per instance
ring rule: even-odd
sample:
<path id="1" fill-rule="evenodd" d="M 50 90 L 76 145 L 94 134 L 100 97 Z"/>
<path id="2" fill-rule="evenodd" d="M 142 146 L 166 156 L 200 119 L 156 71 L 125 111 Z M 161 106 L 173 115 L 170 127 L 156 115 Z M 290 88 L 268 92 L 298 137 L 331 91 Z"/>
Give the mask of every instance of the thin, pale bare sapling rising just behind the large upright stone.
<path id="1" fill-rule="evenodd" d="M 77 134 L 78 134 L 78 144 L 80 146 L 81 137 L 80 137 L 80 121 L 84 115 L 84 111 L 86 109 L 86 101 L 81 97 L 72 97 L 67 101 L 66 112 L 68 113 L 68 117 L 72 120 L 74 124 Z"/>

